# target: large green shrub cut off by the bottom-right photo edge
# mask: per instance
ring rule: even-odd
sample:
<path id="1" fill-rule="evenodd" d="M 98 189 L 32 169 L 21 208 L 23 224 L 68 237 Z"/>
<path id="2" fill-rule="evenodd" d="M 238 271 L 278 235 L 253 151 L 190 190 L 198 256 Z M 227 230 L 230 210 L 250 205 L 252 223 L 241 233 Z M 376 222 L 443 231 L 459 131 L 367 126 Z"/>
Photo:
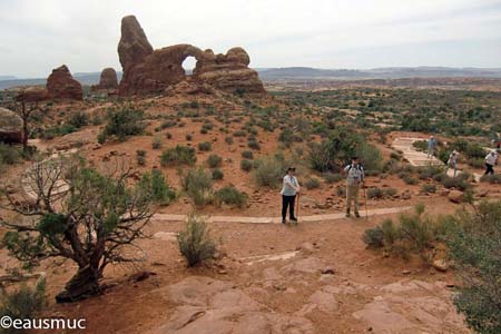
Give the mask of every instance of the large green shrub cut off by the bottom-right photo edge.
<path id="1" fill-rule="evenodd" d="M 450 217 L 446 245 L 461 279 L 454 304 L 478 333 L 501 333 L 501 202 Z"/>

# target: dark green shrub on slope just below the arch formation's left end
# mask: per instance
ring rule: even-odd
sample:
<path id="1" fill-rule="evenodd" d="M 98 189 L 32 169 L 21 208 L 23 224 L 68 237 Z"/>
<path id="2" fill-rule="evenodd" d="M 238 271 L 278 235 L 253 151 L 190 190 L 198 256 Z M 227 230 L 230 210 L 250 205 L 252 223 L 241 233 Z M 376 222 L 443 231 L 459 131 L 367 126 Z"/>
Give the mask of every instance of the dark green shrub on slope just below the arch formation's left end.
<path id="1" fill-rule="evenodd" d="M 105 141 L 109 137 L 116 137 L 122 141 L 129 136 L 140 135 L 145 129 L 141 110 L 124 107 L 120 109 L 108 109 L 107 124 L 102 129 Z"/>

